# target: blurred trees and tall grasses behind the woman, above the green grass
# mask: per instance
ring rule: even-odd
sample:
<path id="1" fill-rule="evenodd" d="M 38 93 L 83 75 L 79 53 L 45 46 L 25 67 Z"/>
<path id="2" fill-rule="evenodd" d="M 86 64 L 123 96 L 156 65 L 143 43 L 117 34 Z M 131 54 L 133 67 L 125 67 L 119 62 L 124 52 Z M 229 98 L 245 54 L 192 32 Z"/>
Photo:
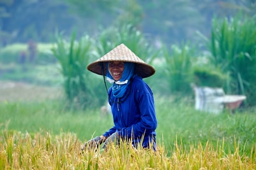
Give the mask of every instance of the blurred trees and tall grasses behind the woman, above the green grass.
<path id="1" fill-rule="evenodd" d="M 255 0 L 0 0 L 0 78 L 61 84 L 72 108 L 99 106 L 103 78 L 85 68 L 125 43 L 156 67 L 145 79 L 156 94 L 193 96 L 195 83 L 254 106 L 255 13 Z M 59 83 L 42 66 L 60 69 Z"/>

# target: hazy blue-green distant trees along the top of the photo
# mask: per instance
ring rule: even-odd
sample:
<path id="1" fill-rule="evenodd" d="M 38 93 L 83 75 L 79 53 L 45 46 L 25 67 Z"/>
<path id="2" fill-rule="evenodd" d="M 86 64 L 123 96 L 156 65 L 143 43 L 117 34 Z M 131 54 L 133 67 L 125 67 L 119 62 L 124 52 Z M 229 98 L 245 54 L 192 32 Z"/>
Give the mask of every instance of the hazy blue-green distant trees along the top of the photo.
<path id="1" fill-rule="evenodd" d="M 49 42 L 54 31 L 70 35 L 97 34 L 99 25 L 131 23 L 141 32 L 166 43 L 195 39 L 195 31 L 209 36 L 212 17 L 230 17 L 243 11 L 253 16 L 255 0 L 145 1 L 145 0 L 1 0 L 1 44 Z"/>

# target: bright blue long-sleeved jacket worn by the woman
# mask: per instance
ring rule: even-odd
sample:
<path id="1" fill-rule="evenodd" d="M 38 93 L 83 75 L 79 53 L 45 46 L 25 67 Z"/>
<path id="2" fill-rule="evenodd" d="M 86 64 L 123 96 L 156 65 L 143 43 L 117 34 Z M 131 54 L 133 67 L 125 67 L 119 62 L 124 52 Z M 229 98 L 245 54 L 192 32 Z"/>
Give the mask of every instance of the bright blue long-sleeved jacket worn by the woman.
<path id="1" fill-rule="evenodd" d="M 108 90 L 109 104 L 113 114 L 114 126 L 103 135 L 108 137 L 118 132 L 123 139 L 132 139 L 132 144 L 148 147 L 156 146 L 156 111 L 152 90 L 140 76 L 135 76 L 124 97 L 118 99 Z"/>

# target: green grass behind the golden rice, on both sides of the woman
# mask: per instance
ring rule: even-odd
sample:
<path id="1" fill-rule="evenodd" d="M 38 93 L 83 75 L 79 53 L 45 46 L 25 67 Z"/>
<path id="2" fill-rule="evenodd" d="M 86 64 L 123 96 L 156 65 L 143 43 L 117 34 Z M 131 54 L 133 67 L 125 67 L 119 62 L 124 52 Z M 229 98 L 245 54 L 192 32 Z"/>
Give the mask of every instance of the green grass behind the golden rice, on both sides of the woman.
<path id="1" fill-rule="evenodd" d="M 67 111 L 59 100 L 42 102 L 0 104 L 1 130 L 29 134 L 49 132 L 58 135 L 61 132 L 76 134 L 81 141 L 99 136 L 112 125 L 111 115 L 102 115 L 100 108 L 84 111 Z M 231 115 L 224 111 L 219 115 L 194 110 L 189 101 L 173 101 L 156 97 L 157 141 L 173 148 L 175 141 L 185 148 L 198 143 L 214 145 L 225 141 L 225 149 L 233 150 L 239 143 L 241 152 L 250 153 L 255 146 L 256 115 L 237 112 Z"/>

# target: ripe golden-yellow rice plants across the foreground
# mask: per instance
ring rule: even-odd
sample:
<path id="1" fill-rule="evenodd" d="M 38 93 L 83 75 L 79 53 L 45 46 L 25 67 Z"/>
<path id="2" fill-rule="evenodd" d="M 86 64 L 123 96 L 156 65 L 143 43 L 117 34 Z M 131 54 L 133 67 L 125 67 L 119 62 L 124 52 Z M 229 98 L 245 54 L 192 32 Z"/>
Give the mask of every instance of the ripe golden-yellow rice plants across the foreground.
<path id="1" fill-rule="evenodd" d="M 225 142 L 185 148 L 175 141 L 172 150 L 159 145 L 156 151 L 133 148 L 131 143 L 121 143 L 108 150 L 85 150 L 81 152 L 81 141 L 74 134 L 51 136 L 38 133 L 8 134 L 0 137 L 0 169 L 255 169 L 256 150 L 249 155 L 239 152 L 225 152 Z M 51 140 L 51 145 L 49 145 Z"/>

